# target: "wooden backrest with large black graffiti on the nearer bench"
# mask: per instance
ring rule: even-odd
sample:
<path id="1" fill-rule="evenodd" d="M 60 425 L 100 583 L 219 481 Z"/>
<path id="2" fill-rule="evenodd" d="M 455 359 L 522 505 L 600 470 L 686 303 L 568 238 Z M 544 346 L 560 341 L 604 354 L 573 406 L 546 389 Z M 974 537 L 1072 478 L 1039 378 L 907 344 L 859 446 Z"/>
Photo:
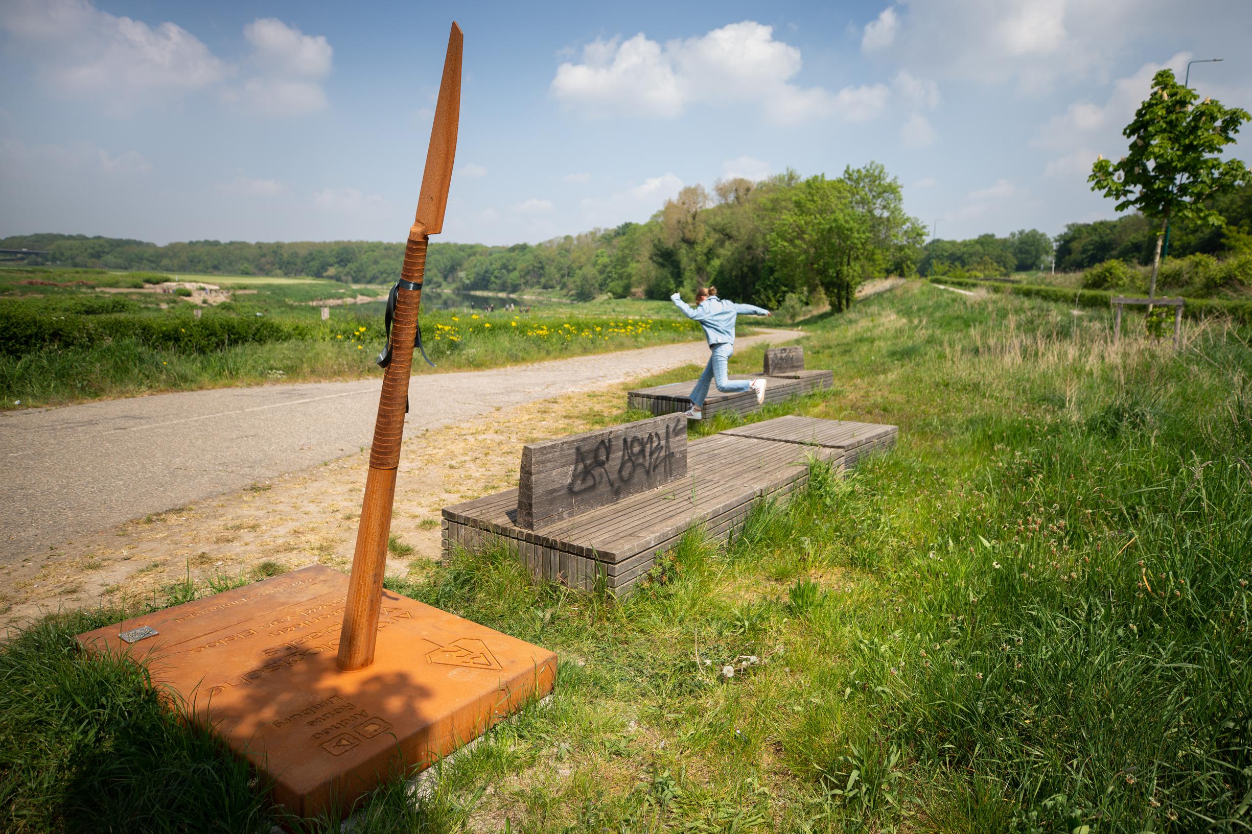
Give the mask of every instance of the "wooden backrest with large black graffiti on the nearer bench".
<path id="1" fill-rule="evenodd" d="M 531 443 L 522 446 L 517 526 L 536 530 L 686 474 L 682 414 Z"/>

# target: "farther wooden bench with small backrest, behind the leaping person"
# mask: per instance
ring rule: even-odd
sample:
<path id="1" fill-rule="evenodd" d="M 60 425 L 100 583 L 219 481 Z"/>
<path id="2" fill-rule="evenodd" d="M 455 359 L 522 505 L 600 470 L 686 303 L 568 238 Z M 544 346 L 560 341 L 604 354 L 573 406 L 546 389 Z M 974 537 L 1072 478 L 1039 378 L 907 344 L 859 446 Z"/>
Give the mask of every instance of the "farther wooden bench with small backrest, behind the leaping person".
<path id="1" fill-rule="evenodd" d="M 781 403 L 793 396 L 833 388 L 835 384 L 834 371 L 804 370 L 803 348 L 770 348 L 765 351 L 764 374 L 730 375 L 731 379 L 760 379 L 761 376 L 765 378 L 765 403 Z M 695 388 L 695 380 L 640 388 L 627 391 L 626 405 L 652 414 L 686 411 L 691 408 L 692 388 Z M 705 416 L 712 416 L 719 411 L 749 414 L 761 410 L 762 405 L 756 401 L 756 394 L 752 391 L 724 393 L 710 385 L 701 411 Z"/>

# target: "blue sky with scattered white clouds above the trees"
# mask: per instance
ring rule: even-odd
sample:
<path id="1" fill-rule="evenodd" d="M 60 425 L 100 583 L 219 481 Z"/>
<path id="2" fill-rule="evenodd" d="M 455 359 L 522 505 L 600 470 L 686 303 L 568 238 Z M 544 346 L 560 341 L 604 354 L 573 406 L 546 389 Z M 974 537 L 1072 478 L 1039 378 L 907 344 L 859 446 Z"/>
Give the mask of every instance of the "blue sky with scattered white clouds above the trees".
<path id="1" fill-rule="evenodd" d="M 940 236 L 1055 234 L 1113 215 L 1085 174 L 1158 68 L 1223 58 L 1192 86 L 1252 109 L 1248 0 L 0 0 L 0 235 L 401 240 L 452 19 L 437 240 L 535 243 L 684 185 L 870 160 Z"/>

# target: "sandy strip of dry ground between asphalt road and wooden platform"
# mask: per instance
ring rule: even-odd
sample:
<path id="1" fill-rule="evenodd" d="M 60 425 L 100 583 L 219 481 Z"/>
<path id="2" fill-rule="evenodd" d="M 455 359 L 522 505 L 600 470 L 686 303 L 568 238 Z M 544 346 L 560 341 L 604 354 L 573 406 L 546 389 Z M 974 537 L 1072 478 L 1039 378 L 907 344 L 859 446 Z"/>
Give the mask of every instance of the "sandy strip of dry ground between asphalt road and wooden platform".
<path id="1" fill-rule="evenodd" d="M 464 424 L 417 431 L 404 441 L 392 531 L 411 554 L 388 558 L 389 573 L 439 555 L 439 510 L 517 485 L 526 443 L 573 434 L 621 410 L 630 383 L 502 408 Z M 347 570 L 368 468 L 368 451 L 278 476 L 194 505 L 120 524 L 0 568 L 21 623 L 59 606 L 151 598 L 183 580 L 238 575 L 274 563 L 321 563 Z"/>

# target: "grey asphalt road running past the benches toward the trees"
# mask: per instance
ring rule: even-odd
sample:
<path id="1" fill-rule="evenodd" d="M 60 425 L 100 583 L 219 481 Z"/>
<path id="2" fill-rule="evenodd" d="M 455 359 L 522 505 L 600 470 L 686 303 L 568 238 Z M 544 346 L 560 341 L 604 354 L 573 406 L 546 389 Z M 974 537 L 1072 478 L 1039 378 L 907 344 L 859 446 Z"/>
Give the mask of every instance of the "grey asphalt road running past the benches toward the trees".
<path id="1" fill-rule="evenodd" d="M 788 330 L 737 340 L 786 341 Z M 686 363 L 702 343 L 449 374 L 409 383 L 413 426 L 442 426 Z M 381 379 L 225 388 L 0 414 L 0 560 L 368 446 Z"/>

